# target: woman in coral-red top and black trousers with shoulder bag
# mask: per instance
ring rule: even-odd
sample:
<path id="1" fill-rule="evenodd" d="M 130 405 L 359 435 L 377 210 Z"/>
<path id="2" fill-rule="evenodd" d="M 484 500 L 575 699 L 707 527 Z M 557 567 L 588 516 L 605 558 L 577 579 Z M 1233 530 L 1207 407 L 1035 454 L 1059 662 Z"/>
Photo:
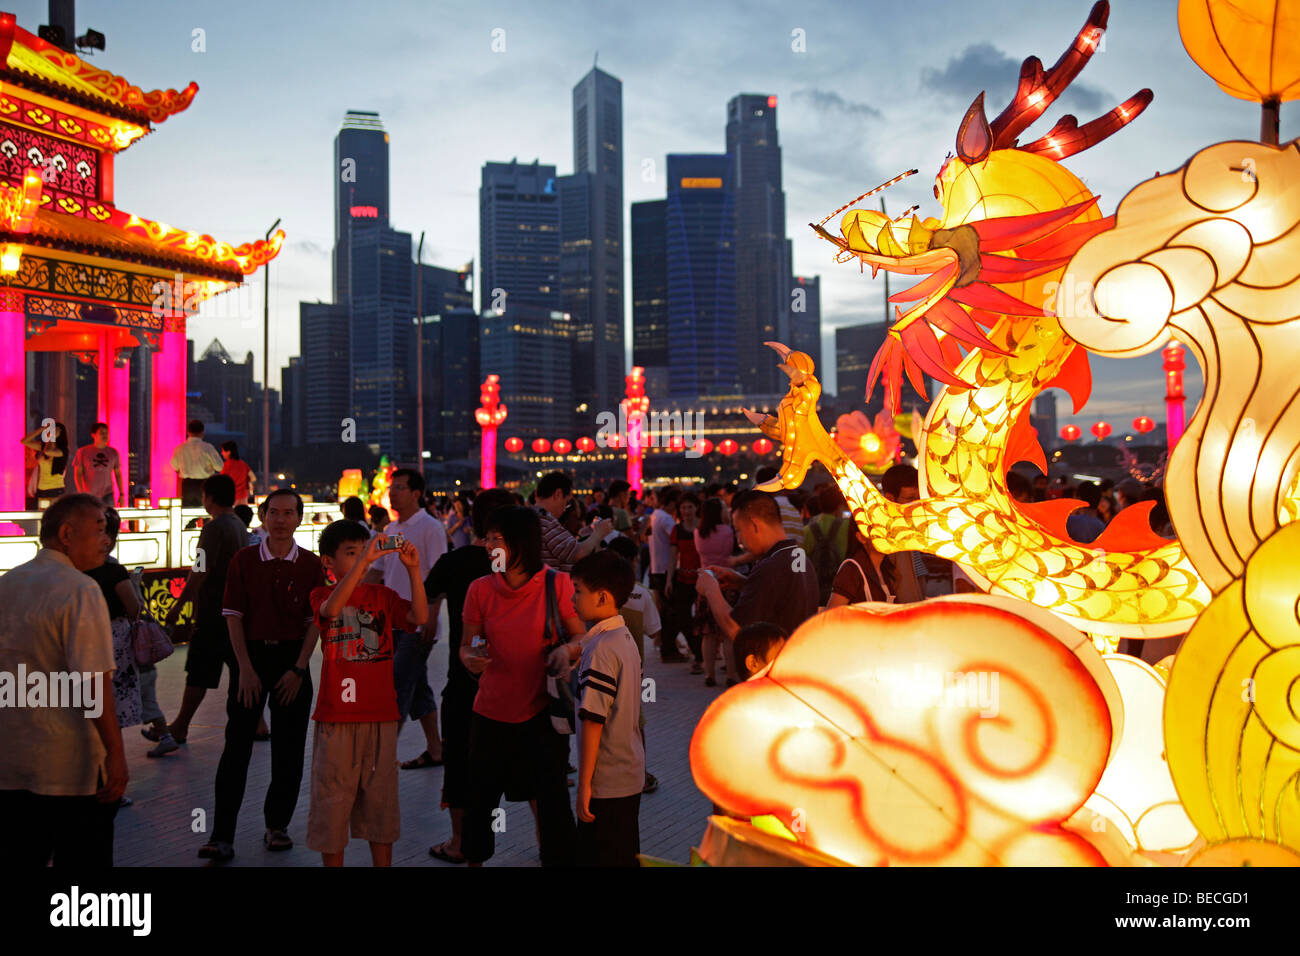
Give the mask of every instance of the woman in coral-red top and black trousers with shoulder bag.
<path id="1" fill-rule="evenodd" d="M 573 610 L 573 584 L 542 563 L 542 523 L 528 507 L 502 509 L 488 522 L 484 544 L 495 574 L 465 594 L 460 662 L 478 676 L 469 728 L 469 793 L 460 851 L 472 866 L 495 849 L 493 814 L 507 800 L 532 800 L 542 866 L 569 866 L 577 830 L 569 804 L 568 737 L 551 727 L 546 695 L 547 576 L 562 620 L 560 641 L 586 628 Z M 504 568 L 504 570 L 499 570 Z"/>

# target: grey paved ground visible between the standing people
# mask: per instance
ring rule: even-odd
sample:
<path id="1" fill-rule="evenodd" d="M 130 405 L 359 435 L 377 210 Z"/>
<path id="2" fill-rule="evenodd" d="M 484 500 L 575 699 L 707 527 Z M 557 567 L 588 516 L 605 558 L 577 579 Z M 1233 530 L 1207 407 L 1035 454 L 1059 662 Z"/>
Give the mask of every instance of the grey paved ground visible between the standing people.
<path id="1" fill-rule="evenodd" d="M 446 610 L 439 633 L 447 632 Z M 159 702 L 170 718 L 179 706 L 185 685 L 186 648 L 159 666 Z M 688 665 L 659 663 L 655 654 L 646 662 L 645 676 L 654 679 L 655 700 L 642 704 L 646 711 L 646 747 L 650 773 L 659 778 L 659 790 L 641 799 L 641 851 L 651 856 L 686 862 L 690 848 L 698 845 L 711 810 L 710 801 L 696 788 L 686 750 L 690 734 L 708 704 L 722 688 L 707 688 L 702 676 L 690 676 Z M 436 692 L 446 683 L 447 644 L 438 641 L 429 657 L 429 679 Z M 318 685 L 320 654 L 312 661 L 312 676 Z M 722 676 L 722 675 L 720 675 Z M 720 682 L 722 683 L 722 682 Z M 144 756 L 152 747 L 138 727 L 122 732 L 126 741 L 131 779 L 127 795 L 133 806 L 117 814 L 114 861 L 118 866 L 203 866 L 196 851 L 207 832 L 194 830 L 205 816 L 212 826 L 213 780 L 221 758 L 225 731 L 225 684 L 209 691 L 190 728 L 186 747 L 161 760 Z M 272 726 L 274 734 L 274 726 Z M 296 845 L 283 853 L 266 852 L 261 845 L 264 825 L 261 801 L 270 779 L 270 744 L 256 744 L 248 767 L 235 858 L 230 866 L 318 866 L 320 856 L 304 845 L 308 788 L 311 784 L 311 732 L 307 735 L 307 769 L 303 774 L 298 809 L 289 829 Z M 407 723 L 398 740 L 398 756 L 415 757 L 424 749 L 419 726 Z M 442 767 L 399 771 L 402 838 L 393 847 L 395 866 L 450 866 L 429 856 L 429 847 L 451 835 L 447 813 L 439 809 Z M 489 866 L 537 866 L 537 842 L 528 804 L 503 804 L 506 831 L 497 835 L 497 855 Z M 203 810 L 203 814 L 198 814 Z M 369 865 L 369 848 L 361 840 L 348 844 L 348 866 Z"/>

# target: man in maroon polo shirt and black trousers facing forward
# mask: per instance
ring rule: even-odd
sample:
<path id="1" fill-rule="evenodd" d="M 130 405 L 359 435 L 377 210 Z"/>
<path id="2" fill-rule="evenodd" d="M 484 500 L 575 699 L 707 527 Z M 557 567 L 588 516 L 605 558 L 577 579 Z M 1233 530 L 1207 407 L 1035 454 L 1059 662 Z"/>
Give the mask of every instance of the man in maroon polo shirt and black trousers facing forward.
<path id="1" fill-rule="evenodd" d="M 205 860 L 234 857 L 235 823 L 243 804 L 254 734 L 266 697 L 276 734 L 270 739 L 270 786 L 264 808 L 266 849 L 291 849 L 289 821 L 303 783 L 303 753 L 312 709 L 307 670 L 316 648 L 311 593 L 325 584 L 320 558 L 294 544 L 303 520 L 303 499 L 277 488 L 263 505 L 266 537 L 244 548 L 226 572 L 224 614 L 230 628 L 230 692 L 226 697 L 226 748 L 217 765 L 217 803 L 212 839 L 199 848 Z"/>

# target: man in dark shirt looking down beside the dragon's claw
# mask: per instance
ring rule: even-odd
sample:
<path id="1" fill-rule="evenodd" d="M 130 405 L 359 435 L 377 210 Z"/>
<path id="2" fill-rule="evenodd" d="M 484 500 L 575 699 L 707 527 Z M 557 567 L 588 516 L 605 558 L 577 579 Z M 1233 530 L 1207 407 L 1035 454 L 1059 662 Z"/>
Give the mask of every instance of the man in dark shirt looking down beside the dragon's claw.
<path id="1" fill-rule="evenodd" d="M 807 554 L 785 535 L 781 511 L 767 492 L 741 492 L 732 498 L 732 524 L 741 546 L 758 555 L 749 575 L 712 566 L 696 591 L 708 602 L 718 627 L 729 640 L 746 624 L 777 624 L 786 633 L 816 614 L 818 583 Z M 723 589 L 740 591 L 728 606 Z"/>

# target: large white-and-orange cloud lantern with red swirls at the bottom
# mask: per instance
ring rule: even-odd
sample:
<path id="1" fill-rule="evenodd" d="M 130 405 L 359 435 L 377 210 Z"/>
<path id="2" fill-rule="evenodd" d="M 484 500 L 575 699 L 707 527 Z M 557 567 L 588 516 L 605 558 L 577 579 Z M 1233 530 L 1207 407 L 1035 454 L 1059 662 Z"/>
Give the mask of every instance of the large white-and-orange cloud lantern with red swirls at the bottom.
<path id="1" fill-rule="evenodd" d="M 855 605 L 716 700 L 690 766 L 728 812 L 855 865 L 1100 865 L 1061 822 L 1101 779 L 1112 713 L 1101 658 L 1040 609 Z"/>

